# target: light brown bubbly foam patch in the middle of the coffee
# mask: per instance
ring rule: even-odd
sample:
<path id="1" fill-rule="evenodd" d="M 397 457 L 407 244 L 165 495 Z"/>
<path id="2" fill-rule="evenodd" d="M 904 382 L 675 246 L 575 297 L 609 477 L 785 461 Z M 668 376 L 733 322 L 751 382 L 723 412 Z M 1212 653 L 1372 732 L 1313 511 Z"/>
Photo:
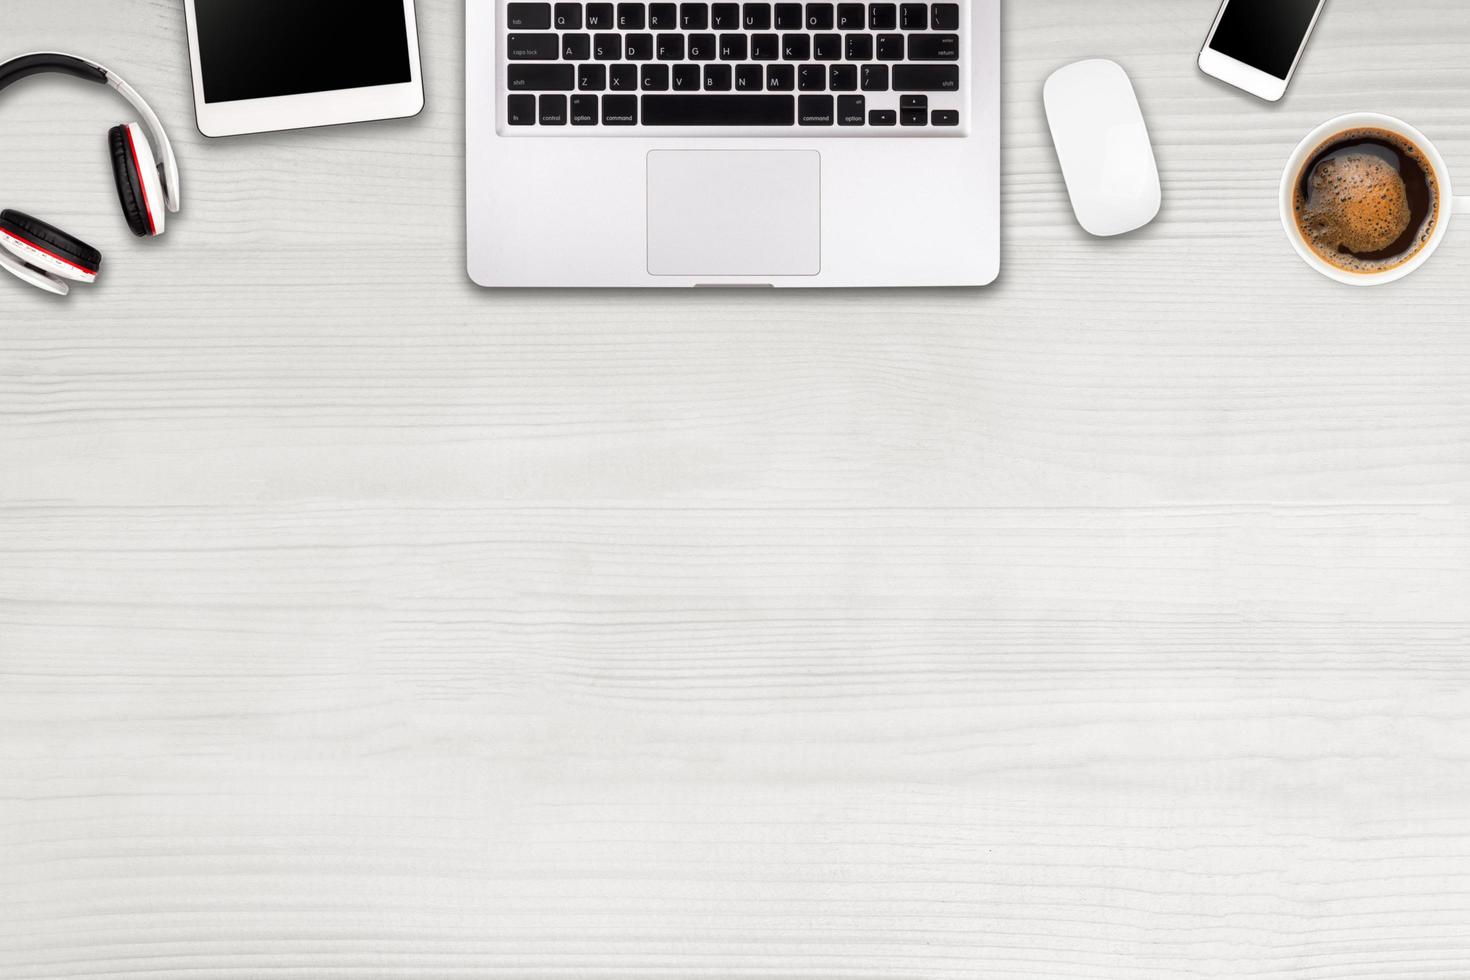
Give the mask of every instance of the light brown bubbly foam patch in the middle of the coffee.
<path id="1" fill-rule="evenodd" d="M 1408 188 L 1382 157 L 1349 153 L 1323 160 L 1308 188 L 1302 226 L 1319 248 L 1367 254 L 1388 248 L 1408 231 Z"/>

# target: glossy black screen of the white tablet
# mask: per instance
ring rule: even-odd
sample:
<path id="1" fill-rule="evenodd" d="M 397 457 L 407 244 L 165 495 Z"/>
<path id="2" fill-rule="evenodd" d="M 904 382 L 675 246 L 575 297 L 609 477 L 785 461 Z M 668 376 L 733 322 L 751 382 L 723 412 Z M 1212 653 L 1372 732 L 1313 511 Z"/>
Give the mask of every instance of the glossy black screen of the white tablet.
<path id="1" fill-rule="evenodd" d="M 413 81 L 403 0 L 194 0 L 204 101 Z"/>

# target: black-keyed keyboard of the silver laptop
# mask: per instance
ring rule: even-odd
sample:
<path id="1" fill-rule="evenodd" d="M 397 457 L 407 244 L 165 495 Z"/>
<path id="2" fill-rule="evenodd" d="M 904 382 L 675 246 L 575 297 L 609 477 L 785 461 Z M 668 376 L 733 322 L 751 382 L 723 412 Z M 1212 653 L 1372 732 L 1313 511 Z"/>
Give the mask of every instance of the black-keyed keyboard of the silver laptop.
<path id="1" fill-rule="evenodd" d="M 503 3 L 507 134 L 960 135 L 958 3 Z"/>

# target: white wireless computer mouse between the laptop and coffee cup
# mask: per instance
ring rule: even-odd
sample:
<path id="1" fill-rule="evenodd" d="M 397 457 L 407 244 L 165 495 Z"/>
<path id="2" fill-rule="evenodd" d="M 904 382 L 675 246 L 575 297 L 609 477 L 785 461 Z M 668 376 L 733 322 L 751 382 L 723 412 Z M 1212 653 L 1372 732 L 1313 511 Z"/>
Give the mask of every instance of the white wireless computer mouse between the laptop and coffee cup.
<path id="1" fill-rule="evenodd" d="M 1154 220 L 1163 204 L 1158 163 L 1123 66 L 1067 65 L 1047 79 L 1044 100 L 1078 223 L 1110 237 Z"/>

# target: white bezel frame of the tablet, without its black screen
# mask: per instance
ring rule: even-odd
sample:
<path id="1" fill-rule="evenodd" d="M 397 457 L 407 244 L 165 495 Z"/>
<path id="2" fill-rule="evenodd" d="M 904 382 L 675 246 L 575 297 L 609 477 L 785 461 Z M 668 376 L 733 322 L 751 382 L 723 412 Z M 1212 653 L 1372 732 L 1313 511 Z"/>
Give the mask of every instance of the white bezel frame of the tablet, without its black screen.
<path id="1" fill-rule="evenodd" d="M 419 60 L 419 25 L 413 0 L 403 0 L 410 81 L 397 85 L 215 103 L 204 101 L 204 71 L 198 53 L 198 19 L 194 1 L 185 0 L 184 9 L 188 21 L 190 68 L 194 75 L 194 118 L 198 131 L 206 137 L 238 137 L 250 132 L 335 126 L 345 122 L 403 119 L 423 112 L 423 69 Z"/>

